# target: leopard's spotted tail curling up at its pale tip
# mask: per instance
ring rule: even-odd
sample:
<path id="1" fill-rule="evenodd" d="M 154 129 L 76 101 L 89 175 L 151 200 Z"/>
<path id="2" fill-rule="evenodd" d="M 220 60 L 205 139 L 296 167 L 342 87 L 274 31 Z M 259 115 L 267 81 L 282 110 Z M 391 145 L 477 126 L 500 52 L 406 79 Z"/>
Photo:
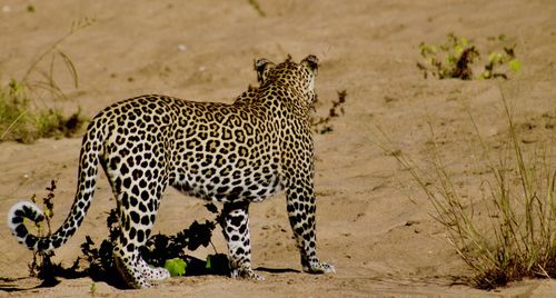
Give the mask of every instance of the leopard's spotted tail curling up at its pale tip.
<path id="1" fill-rule="evenodd" d="M 87 215 L 87 210 L 95 193 L 97 182 L 98 163 L 102 151 L 102 140 L 96 132 L 95 119 L 90 122 L 87 133 L 83 136 L 81 153 L 79 156 L 79 173 L 76 198 L 71 211 L 63 225 L 52 235 L 40 237 L 29 232 L 24 219 L 40 221 L 44 218 L 42 210 L 30 201 L 19 201 L 8 212 L 8 226 L 18 242 L 34 251 L 53 250 L 63 244 L 77 231 Z"/>

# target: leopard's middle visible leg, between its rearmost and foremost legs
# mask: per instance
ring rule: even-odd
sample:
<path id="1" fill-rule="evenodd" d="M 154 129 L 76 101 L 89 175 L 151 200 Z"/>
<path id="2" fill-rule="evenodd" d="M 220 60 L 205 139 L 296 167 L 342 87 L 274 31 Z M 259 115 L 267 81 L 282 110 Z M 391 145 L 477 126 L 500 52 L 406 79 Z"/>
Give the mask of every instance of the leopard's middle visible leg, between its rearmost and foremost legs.
<path id="1" fill-rule="evenodd" d="M 228 202 L 222 210 L 222 231 L 228 244 L 231 277 L 264 280 L 251 268 L 251 240 L 249 239 L 249 202 Z"/>

